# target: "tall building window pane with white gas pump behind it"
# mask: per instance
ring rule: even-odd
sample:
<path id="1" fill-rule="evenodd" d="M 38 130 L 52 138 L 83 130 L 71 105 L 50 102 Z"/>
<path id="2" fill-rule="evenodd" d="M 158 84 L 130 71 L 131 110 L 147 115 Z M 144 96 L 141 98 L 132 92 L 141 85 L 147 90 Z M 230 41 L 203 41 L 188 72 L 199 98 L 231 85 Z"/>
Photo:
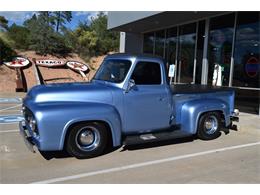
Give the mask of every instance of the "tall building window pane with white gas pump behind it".
<path id="1" fill-rule="evenodd" d="M 229 85 L 234 21 L 234 13 L 210 20 L 208 47 L 209 85 Z"/>

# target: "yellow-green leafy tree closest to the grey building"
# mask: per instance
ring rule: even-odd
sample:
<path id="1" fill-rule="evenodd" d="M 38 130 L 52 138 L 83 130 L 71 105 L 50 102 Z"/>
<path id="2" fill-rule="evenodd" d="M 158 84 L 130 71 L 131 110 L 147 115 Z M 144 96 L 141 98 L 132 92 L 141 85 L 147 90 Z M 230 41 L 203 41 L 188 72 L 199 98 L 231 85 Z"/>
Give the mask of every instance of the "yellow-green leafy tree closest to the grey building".
<path id="1" fill-rule="evenodd" d="M 63 30 L 63 37 L 66 45 L 86 60 L 119 47 L 119 33 L 107 30 L 107 16 L 103 12 L 92 18 L 90 24 L 80 22 L 73 31 Z"/>

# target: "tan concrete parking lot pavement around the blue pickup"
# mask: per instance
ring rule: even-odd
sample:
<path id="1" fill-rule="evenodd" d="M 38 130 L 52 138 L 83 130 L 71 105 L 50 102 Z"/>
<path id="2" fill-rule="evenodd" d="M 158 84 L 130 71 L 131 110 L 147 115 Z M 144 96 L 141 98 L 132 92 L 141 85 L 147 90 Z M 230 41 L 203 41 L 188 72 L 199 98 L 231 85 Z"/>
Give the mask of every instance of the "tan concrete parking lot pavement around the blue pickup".
<path id="1" fill-rule="evenodd" d="M 17 98 L 23 95 L 1 95 L 13 99 L 0 103 L 0 115 L 21 115 Z M 60 152 L 31 153 L 18 122 L 2 117 L 0 162 L 0 183 L 260 183 L 260 117 L 241 113 L 238 131 L 222 132 L 213 141 L 121 147 L 85 160 Z"/>

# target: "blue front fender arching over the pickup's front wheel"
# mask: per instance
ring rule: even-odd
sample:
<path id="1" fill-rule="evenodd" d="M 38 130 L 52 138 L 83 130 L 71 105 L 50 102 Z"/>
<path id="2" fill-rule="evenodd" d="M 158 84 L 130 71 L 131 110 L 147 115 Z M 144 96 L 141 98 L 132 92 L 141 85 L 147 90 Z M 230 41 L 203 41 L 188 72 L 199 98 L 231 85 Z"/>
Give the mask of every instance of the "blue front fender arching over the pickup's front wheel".
<path id="1" fill-rule="evenodd" d="M 113 145 L 121 144 L 121 118 L 115 107 L 103 103 L 42 103 L 36 108 L 40 150 L 62 150 L 69 127 L 81 121 L 103 121 L 111 129 Z"/>

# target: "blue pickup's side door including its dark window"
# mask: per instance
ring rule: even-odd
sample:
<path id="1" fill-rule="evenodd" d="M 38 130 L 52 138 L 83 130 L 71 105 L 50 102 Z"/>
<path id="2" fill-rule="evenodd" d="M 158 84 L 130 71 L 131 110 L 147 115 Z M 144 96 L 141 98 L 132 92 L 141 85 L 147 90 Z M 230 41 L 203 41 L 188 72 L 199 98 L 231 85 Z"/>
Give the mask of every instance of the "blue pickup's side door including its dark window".
<path id="1" fill-rule="evenodd" d="M 162 68 L 157 62 L 139 61 L 131 79 L 135 86 L 124 94 L 124 130 L 149 132 L 169 126 L 171 107 Z"/>

